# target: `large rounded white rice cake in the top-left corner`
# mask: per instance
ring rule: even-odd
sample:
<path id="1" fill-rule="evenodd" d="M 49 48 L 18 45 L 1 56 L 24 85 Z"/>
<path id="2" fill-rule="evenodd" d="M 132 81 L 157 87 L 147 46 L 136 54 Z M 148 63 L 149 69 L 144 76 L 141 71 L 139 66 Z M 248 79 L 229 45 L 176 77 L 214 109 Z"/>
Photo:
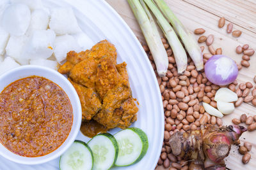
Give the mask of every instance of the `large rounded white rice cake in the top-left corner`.
<path id="1" fill-rule="evenodd" d="M 1 18 L 1 25 L 11 36 L 22 36 L 28 29 L 31 14 L 25 4 L 10 4 Z"/>

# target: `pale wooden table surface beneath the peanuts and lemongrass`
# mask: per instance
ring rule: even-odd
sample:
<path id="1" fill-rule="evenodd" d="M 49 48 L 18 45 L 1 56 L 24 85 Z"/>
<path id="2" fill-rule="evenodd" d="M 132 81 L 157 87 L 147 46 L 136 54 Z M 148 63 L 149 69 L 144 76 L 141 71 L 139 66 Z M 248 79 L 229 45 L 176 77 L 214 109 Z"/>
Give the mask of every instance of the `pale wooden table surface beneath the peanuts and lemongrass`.
<path id="1" fill-rule="evenodd" d="M 132 31 L 145 42 L 140 27 L 129 4 L 126 0 L 106 0 L 131 27 Z M 236 62 L 241 62 L 242 54 L 236 53 L 236 46 L 244 44 L 250 45 L 250 48 L 256 50 L 256 1 L 255 0 L 165 0 L 168 6 L 173 10 L 181 22 L 190 30 L 202 27 L 205 29 L 205 36 L 214 34 L 214 48 L 221 47 L 224 55 L 232 57 Z M 218 27 L 220 17 L 226 18 L 225 27 Z M 234 38 L 232 34 L 227 34 L 227 24 L 234 24 L 233 30 L 240 30 L 242 34 L 239 38 Z M 199 36 L 195 35 L 197 39 Z M 207 46 L 205 43 L 205 51 Z M 237 81 L 251 81 L 256 75 L 256 54 L 251 57 L 250 67 L 241 69 Z M 255 85 L 255 83 L 253 83 Z M 224 124 L 232 124 L 232 118 L 239 118 L 241 114 L 255 115 L 256 108 L 251 103 L 243 103 L 236 108 L 234 113 L 222 118 Z M 232 146 L 232 151 L 226 160 L 227 167 L 232 170 L 256 169 L 256 131 L 246 132 L 241 137 L 241 142 L 250 141 L 253 148 L 250 151 L 252 159 L 246 165 L 241 162 L 242 155 L 237 152 L 237 147 Z M 157 169 L 163 169 L 158 167 Z"/>

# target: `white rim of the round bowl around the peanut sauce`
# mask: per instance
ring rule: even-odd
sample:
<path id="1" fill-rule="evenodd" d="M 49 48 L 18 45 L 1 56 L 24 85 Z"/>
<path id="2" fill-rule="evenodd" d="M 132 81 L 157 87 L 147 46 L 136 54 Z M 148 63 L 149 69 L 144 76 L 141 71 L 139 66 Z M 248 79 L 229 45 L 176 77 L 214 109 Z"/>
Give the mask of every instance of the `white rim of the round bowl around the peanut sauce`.
<path id="1" fill-rule="evenodd" d="M 54 69 L 50 69 L 49 67 L 36 66 L 36 65 L 19 66 L 19 67 L 16 67 L 14 69 L 11 69 L 10 71 L 6 71 L 5 73 L 1 74 L 0 75 L 0 81 L 4 80 L 4 78 L 6 78 L 6 76 L 13 75 L 13 73 L 18 73 L 17 76 L 16 76 L 17 78 L 15 77 L 14 81 L 20 80 L 22 78 L 29 77 L 29 76 L 20 77 L 19 73 L 20 73 L 20 71 L 33 70 L 33 69 L 44 71 L 43 74 L 49 74 L 49 73 L 54 74 L 55 76 L 58 76 L 58 78 L 60 78 L 60 80 L 63 83 L 65 83 L 65 85 L 67 85 L 67 89 L 70 90 L 70 94 L 72 94 L 72 97 L 70 97 L 70 95 L 68 96 L 67 89 L 65 90 L 62 87 L 61 87 L 61 89 L 67 94 L 68 99 L 70 100 L 70 103 L 72 105 L 73 121 L 72 121 L 72 127 L 71 127 L 70 132 L 69 132 L 67 138 L 65 139 L 65 141 L 58 148 L 56 148 L 56 150 L 54 150 L 50 153 L 47 153 L 46 155 L 40 156 L 40 157 L 24 157 L 24 156 L 18 155 L 16 153 L 11 152 L 2 143 L 0 143 L 1 147 L 3 146 L 4 148 L 6 148 L 6 151 L 2 152 L 0 150 L 0 155 L 2 155 L 6 159 L 12 160 L 13 162 L 17 162 L 19 164 L 27 164 L 27 165 L 43 164 L 45 162 L 49 162 L 50 160 L 56 159 L 57 157 L 60 157 L 72 145 L 72 143 L 74 143 L 74 141 L 77 137 L 77 134 L 80 131 L 81 120 L 82 120 L 81 103 L 80 103 L 79 96 L 77 95 L 76 90 L 74 89 L 74 87 L 70 83 L 70 81 L 68 81 L 68 79 L 65 76 L 63 76 L 63 74 L 59 73 L 58 71 L 55 71 Z M 31 71 L 30 76 L 38 76 L 38 75 L 36 75 L 35 73 L 33 73 Z M 42 75 L 40 75 L 40 76 L 42 76 Z M 50 78 L 47 78 L 47 76 L 42 76 L 42 77 L 50 80 Z M 14 82 L 14 81 L 12 81 L 12 82 Z M 56 82 L 54 80 L 50 80 L 50 81 L 56 83 L 56 85 L 58 85 L 60 87 L 58 82 Z M 10 83 L 6 84 L 4 86 L 4 88 L 7 87 L 8 85 L 10 85 Z M 1 90 L 0 93 L 3 90 Z M 72 98 L 72 99 L 70 99 L 70 98 Z M 76 108 L 76 110 L 77 110 L 76 113 L 74 111 L 74 106 L 73 106 L 71 100 L 74 100 L 75 107 L 77 107 Z M 75 118 L 75 115 L 76 115 L 76 118 Z M 75 124 L 75 122 L 78 122 L 78 124 Z M 72 129 L 74 129 L 74 132 L 71 133 Z M 65 146 L 63 146 L 63 148 L 61 148 L 61 146 L 64 143 L 65 143 Z M 15 156 L 5 154 L 6 152 L 13 153 L 13 154 L 15 154 Z M 47 155 L 49 155 L 49 154 L 52 154 L 51 157 L 47 157 Z M 20 159 L 21 157 L 22 157 L 22 160 Z"/>

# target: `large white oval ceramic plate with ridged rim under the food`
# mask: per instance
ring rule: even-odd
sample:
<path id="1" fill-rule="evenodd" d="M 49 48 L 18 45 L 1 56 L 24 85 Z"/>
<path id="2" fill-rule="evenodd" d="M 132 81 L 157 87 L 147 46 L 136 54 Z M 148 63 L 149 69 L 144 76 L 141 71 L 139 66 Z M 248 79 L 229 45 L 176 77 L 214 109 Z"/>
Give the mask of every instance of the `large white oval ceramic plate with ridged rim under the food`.
<path id="1" fill-rule="evenodd" d="M 44 0 L 45 7 L 72 6 L 79 26 L 94 43 L 108 39 L 116 46 L 117 62 L 127 62 L 127 71 L 132 89 L 132 96 L 140 106 L 138 120 L 132 127 L 139 127 L 148 136 L 148 152 L 145 157 L 132 166 L 113 167 L 112 169 L 154 169 L 161 153 L 164 132 L 164 113 L 161 94 L 155 73 L 140 42 L 134 36 L 124 20 L 103 0 Z M 113 129 L 115 134 L 120 129 Z M 79 132 L 77 139 L 87 142 Z M 15 164 L 0 157 L 0 169 L 59 169 L 59 159 L 36 166 Z"/>

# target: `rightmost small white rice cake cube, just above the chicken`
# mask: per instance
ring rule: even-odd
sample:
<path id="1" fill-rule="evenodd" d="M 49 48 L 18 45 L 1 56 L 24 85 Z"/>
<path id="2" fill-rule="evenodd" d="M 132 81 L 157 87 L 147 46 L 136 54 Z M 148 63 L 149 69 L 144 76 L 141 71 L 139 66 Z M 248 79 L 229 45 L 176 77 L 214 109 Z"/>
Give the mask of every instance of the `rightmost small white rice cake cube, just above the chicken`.
<path id="1" fill-rule="evenodd" d="M 73 34 L 82 51 L 90 50 L 95 43 L 84 32 Z"/>

